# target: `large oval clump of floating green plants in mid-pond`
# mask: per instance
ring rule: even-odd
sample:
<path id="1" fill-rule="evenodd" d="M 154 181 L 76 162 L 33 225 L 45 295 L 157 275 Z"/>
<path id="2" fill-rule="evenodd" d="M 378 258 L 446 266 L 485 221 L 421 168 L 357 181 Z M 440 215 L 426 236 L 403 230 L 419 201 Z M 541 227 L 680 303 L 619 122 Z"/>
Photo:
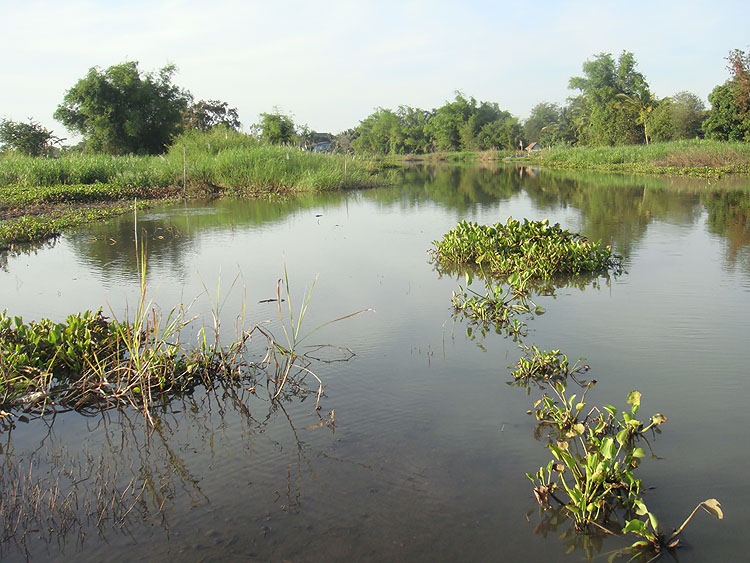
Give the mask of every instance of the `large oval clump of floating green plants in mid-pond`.
<path id="1" fill-rule="evenodd" d="M 476 266 L 493 277 L 525 276 L 549 279 L 559 274 L 606 272 L 620 268 L 620 259 L 600 242 L 562 229 L 549 221 L 479 225 L 462 221 L 442 240 L 435 241 L 439 269 Z"/>

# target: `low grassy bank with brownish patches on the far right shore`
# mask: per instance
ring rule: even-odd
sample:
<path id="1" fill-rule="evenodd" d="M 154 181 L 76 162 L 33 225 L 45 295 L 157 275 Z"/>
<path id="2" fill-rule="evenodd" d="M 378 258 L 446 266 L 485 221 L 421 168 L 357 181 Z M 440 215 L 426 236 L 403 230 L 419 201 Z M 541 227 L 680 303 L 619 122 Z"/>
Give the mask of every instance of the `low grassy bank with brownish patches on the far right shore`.
<path id="1" fill-rule="evenodd" d="M 750 174 L 750 143 L 690 140 L 617 147 L 560 147 L 535 152 L 530 160 L 550 168 L 716 178 Z"/>

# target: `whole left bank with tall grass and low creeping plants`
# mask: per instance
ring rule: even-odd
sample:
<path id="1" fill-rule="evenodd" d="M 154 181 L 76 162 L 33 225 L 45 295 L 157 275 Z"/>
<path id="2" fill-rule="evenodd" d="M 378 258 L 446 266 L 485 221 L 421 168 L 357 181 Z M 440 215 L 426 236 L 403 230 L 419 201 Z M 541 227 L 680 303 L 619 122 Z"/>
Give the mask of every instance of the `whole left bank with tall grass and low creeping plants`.
<path id="1" fill-rule="evenodd" d="M 0 156 L 0 249 L 173 198 L 370 187 L 382 166 L 269 146 L 233 131 L 190 133 L 161 156 Z"/>

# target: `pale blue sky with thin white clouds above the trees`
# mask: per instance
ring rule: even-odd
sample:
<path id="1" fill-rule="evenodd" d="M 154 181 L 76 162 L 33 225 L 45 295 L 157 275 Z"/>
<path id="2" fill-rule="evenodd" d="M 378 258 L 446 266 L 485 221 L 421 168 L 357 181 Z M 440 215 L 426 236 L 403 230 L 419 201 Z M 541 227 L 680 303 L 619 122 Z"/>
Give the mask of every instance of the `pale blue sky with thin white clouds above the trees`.
<path id="1" fill-rule="evenodd" d="M 708 94 L 750 50 L 750 2 L 714 0 L 0 0 L 0 119 L 52 114 L 91 67 L 174 64 L 195 100 L 338 133 L 376 108 L 432 109 L 461 91 L 523 120 L 564 104 L 598 53 L 634 53 L 658 98 Z"/>

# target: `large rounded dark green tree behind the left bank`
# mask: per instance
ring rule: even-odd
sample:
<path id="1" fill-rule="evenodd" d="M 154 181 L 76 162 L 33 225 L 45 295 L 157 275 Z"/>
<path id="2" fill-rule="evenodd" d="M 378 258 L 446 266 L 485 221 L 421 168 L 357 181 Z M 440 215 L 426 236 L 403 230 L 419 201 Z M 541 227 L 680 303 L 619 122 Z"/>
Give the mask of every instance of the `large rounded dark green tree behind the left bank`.
<path id="1" fill-rule="evenodd" d="M 190 94 L 172 84 L 168 65 L 141 74 L 128 61 L 93 67 L 65 94 L 55 119 L 83 135 L 87 150 L 112 154 L 163 152 L 181 129 Z"/>

